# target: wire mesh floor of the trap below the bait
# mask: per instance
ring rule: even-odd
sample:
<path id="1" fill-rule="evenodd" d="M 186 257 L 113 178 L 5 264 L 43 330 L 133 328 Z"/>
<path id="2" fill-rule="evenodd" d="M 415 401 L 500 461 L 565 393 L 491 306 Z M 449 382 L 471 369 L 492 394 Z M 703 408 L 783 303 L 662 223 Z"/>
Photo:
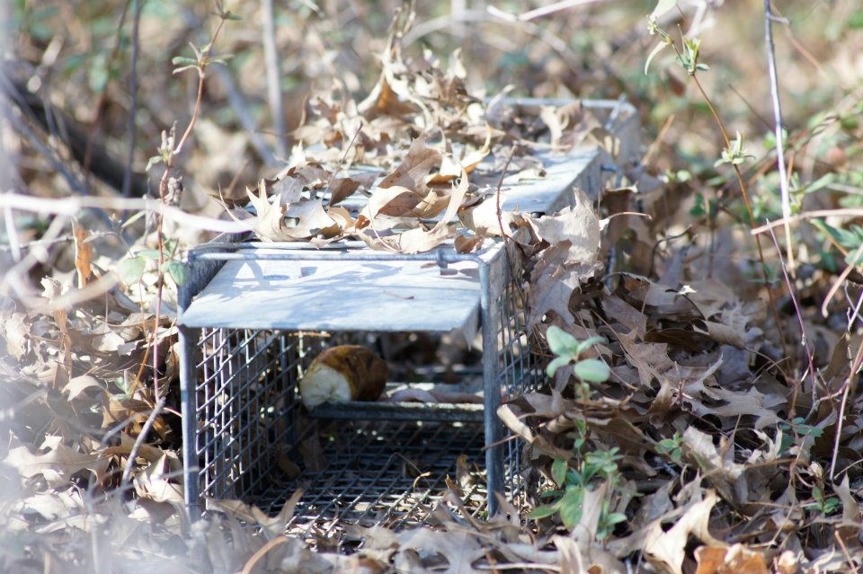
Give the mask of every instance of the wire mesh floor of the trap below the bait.
<path id="1" fill-rule="evenodd" d="M 325 466 L 296 481 L 273 483 L 254 503 L 272 514 L 303 490 L 289 533 L 332 534 L 341 525 L 399 528 L 422 523 L 458 483 L 467 508 L 485 508 L 484 433 L 479 424 L 416 421 L 318 421 Z M 307 443 L 308 444 L 308 443 Z M 315 446 L 316 447 L 316 446 Z"/>

